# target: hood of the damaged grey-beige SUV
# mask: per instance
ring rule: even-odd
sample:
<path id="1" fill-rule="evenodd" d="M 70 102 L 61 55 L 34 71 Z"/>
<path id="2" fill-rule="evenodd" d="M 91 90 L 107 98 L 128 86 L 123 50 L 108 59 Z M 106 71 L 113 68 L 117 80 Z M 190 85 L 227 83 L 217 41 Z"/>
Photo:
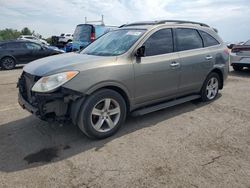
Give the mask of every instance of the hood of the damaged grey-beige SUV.
<path id="1" fill-rule="evenodd" d="M 23 70 L 36 76 L 47 76 L 59 72 L 78 70 L 84 71 L 105 65 L 116 60 L 114 56 L 93 56 L 79 53 L 54 55 L 32 61 Z"/>

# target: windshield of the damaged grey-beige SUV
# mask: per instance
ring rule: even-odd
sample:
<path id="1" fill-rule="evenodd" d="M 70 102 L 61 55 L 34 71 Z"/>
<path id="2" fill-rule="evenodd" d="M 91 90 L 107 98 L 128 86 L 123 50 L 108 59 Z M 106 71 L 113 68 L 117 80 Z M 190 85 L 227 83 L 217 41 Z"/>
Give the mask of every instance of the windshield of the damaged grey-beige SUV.
<path id="1" fill-rule="evenodd" d="M 116 56 L 128 49 L 145 33 L 145 30 L 110 31 L 90 44 L 81 53 L 98 56 Z"/>

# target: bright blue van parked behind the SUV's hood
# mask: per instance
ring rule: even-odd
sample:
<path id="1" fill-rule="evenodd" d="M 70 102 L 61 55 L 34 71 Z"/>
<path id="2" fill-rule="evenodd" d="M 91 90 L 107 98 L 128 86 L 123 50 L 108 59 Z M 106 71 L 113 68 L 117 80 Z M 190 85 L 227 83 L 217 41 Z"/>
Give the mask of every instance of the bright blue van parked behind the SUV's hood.
<path id="1" fill-rule="evenodd" d="M 93 24 L 80 24 L 76 26 L 72 50 L 78 51 L 84 49 L 91 42 L 96 40 L 101 35 L 115 29 L 113 26 L 105 26 L 105 25 L 93 25 Z"/>

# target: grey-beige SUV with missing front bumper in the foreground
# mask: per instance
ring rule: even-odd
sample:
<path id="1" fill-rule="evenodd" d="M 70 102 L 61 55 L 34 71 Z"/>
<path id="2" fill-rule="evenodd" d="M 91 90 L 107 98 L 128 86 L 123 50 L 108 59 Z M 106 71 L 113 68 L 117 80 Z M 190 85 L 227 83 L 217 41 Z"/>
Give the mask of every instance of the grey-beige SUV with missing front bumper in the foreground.
<path id="1" fill-rule="evenodd" d="M 216 30 L 203 23 L 127 24 L 81 52 L 26 65 L 19 103 L 42 120 L 69 121 L 101 139 L 128 114 L 215 99 L 227 78 L 228 56 Z"/>

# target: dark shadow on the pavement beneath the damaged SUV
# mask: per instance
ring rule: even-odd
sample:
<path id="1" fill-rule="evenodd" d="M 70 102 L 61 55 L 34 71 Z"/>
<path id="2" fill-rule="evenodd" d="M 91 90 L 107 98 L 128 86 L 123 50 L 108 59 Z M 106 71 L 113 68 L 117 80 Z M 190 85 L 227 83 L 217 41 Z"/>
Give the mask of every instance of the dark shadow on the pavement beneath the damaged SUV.
<path id="1" fill-rule="evenodd" d="M 98 152 L 113 140 L 207 104 L 196 100 L 144 116 L 128 117 L 114 136 L 103 140 L 87 138 L 77 126 L 49 124 L 34 116 L 0 125 L 0 171 L 14 172 L 34 168 L 67 159 L 90 149 Z"/>

